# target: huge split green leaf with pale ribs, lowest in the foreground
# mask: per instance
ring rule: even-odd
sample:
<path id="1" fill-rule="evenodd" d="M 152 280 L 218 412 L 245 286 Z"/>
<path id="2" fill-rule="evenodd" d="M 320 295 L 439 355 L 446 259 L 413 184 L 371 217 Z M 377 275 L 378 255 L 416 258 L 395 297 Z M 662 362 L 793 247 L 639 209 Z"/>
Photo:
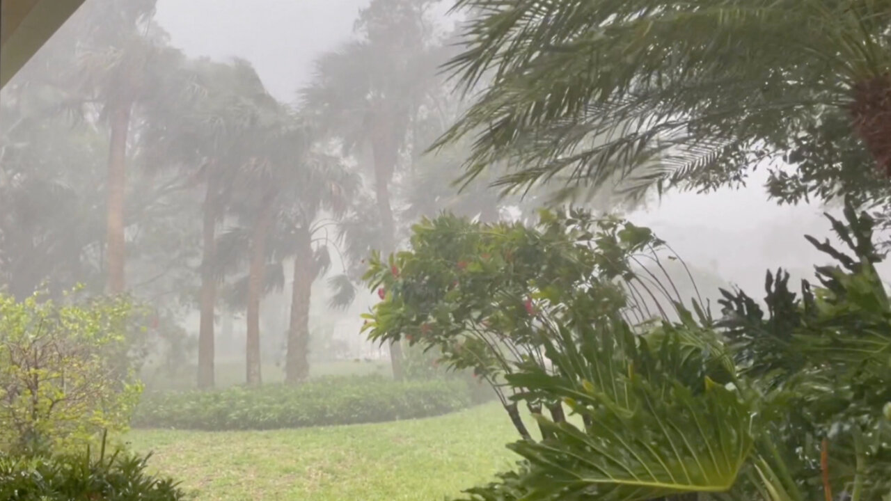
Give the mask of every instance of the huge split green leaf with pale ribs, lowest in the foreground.
<path id="1" fill-rule="evenodd" d="M 534 465 L 523 479 L 528 499 L 643 500 L 732 488 L 752 447 L 739 398 L 720 387 L 694 396 L 679 386 L 664 395 L 631 386 L 634 408 L 592 388 L 601 407 L 583 411 L 594 418 L 586 431 L 541 417 L 553 439 L 511 446 Z"/>

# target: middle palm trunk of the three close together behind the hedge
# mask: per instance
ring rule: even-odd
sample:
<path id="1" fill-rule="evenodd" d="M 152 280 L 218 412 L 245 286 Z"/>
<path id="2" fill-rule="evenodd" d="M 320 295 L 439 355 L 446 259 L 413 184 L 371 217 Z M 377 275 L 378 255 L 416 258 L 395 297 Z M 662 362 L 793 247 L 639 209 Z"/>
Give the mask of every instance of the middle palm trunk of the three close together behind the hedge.
<path id="1" fill-rule="evenodd" d="M 266 237 L 273 223 L 273 201 L 267 197 L 264 207 L 257 214 L 257 222 L 251 235 L 250 269 L 248 275 L 247 341 L 245 361 L 249 386 L 259 386 L 260 374 L 260 297 L 266 280 Z"/>

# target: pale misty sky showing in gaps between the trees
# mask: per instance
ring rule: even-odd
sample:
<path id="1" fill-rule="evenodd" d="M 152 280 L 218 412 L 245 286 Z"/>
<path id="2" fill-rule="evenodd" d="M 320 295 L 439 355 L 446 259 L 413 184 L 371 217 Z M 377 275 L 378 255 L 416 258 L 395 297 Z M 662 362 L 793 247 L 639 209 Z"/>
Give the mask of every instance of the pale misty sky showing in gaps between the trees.
<path id="1" fill-rule="evenodd" d="M 312 77 L 315 57 L 351 36 L 364 4 L 367 0 L 160 0 L 157 20 L 185 53 L 247 59 L 272 94 L 293 102 L 299 86 Z M 738 192 L 674 193 L 632 218 L 652 226 L 685 259 L 758 290 L 766 267 L 804 271 L 821 262 L 802 234 L 828 232 L 819 207 L 767 201 L 763 179 L 762 173 Z"/>

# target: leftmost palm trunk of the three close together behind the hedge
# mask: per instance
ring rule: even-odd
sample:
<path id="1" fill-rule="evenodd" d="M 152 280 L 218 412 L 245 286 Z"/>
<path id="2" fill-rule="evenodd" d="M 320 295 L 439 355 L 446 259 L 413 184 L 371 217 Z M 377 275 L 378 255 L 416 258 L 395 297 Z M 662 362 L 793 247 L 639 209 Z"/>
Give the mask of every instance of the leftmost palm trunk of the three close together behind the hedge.
<path id="1" fill-rule="evenodd" d="M 217 257 L 217 181 L 209 176 L 204 195 L 204 218 L 201 227 L 201 292 L 200 327 L 198 331 L 198 387 L 214 386 L 214 306 L 217 302 L 217 277 L 214 259 Z"/>

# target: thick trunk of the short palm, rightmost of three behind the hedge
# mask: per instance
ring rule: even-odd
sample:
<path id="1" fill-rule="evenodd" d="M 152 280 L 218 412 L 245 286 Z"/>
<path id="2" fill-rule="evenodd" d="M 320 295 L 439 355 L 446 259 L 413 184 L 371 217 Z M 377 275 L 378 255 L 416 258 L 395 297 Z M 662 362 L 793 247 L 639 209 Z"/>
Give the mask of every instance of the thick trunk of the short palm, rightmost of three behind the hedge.
<path id="1" fill-rule="evenodd" d="M 294 283 L 290 294 L 288 351 L 285 355 L 284 382 L 298 384 L 309 377 L 309 305 L 315 280 L 315 261 L 311 235 L 301 231 L 294 259 Z"/>

